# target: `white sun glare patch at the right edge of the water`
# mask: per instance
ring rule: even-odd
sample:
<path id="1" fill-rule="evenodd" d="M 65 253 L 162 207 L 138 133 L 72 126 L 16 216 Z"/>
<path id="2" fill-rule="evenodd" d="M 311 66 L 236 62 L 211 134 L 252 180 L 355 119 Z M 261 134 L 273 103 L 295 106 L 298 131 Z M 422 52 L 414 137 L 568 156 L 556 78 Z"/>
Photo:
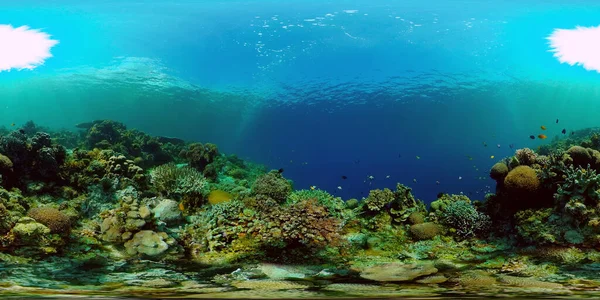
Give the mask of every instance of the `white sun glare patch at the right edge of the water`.
<path id="1" fill-rule="evenodd" d="M 555 29 L 547 39 L 560 63 L 600 72 L 600 26 Z"/>

